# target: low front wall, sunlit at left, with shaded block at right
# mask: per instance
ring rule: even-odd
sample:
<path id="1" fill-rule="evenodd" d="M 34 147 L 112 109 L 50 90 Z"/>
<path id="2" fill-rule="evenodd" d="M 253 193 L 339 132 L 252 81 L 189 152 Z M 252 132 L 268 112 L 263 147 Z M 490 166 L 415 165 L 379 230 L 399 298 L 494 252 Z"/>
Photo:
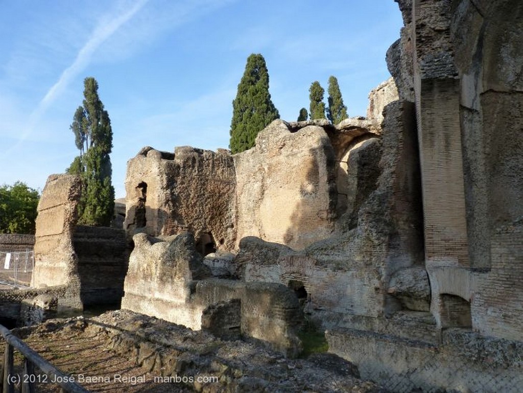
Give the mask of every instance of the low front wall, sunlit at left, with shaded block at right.
<path id="1" fill-rule="evenodd" d="M 210 270 L 196 252 L 188 232 L 166 238 L 134 236 L 134 250 L 125 279 L 122 308 L 162 318 L 200 330 L 203 327 L 224 335 L 226 330 L 269 343 L 296 356 L 301 342 L 295 335 L 301 323 L 298 299 L 291 290 L 275 283 L 245 283 L 210 277 Z M 240 302 L 224 310 L 224 302 Z M 231 313 L 218 320 L 214 313 Z M 239 325 L 230 325 L 238 320 Z M 209 327 L 209 321 L 219 323 Z"/>

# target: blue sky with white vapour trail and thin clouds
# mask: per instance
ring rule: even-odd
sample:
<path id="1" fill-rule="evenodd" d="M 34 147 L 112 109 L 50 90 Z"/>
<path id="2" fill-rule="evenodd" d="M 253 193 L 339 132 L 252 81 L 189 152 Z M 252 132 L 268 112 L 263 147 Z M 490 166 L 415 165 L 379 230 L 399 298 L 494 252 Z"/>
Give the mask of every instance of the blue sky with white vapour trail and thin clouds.
<path id="1" fill-rule="evenodd" d="M 111 118 L 117 197 L 146 145 L 228 148 L 251 53 L 265 57 L 282 119 L 330 75 L 349 116 L 365 115 L 401 26 L 393 0 L 0 0 L 0 184 L 42 189 L 69 166 L 86 76 Z"/>

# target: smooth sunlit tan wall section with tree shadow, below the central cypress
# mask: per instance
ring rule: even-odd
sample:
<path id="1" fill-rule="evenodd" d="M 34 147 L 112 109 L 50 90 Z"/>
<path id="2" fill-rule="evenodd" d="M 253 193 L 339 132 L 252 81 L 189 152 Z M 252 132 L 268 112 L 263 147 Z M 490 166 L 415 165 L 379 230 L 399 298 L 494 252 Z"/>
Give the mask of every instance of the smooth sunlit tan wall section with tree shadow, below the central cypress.
<path id="1" fill-rule="evenodd" d="M 333 231 L 334 152 L 323 128 L 291 132 L 275 120 L 234 164 L 238 241 L 252 235 L 302 249 Z"/>

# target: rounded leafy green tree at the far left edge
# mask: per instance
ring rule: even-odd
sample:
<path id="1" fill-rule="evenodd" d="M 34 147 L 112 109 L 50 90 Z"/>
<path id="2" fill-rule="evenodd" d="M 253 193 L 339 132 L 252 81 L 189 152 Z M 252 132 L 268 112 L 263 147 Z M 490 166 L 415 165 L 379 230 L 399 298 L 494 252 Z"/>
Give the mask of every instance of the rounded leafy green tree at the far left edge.
<path id="1" fill-rule="evenodd" d="M 0 233 L 35 233 L 39 198 L 22 182 L 0 186 Z"/>

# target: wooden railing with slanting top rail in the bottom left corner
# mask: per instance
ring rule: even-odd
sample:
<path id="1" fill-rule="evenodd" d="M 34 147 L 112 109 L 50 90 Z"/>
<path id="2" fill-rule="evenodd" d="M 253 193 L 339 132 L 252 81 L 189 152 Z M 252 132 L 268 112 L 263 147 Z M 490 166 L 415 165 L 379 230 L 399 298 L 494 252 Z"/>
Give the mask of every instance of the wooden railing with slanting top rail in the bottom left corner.
<path id="1" fill-rule="evenodd" d="M 35 374 L 35 367 L 47 375 L 46 381 L 59 385 L 61 392 L 89 393 L 89 390 L 74 382 L 72 376 L 62 373 L 3 325 L 0 325 L 0 333 L 6 341 L 2 393 L 14 393 L 15 385 L 18 384 L 22 387 L 22 393 L 35 393 L 36 384 L 43 381 L 42 375 Z M 15 373 L 14 349 L 24 355 L 24 372 L 21 375 Z"/>

